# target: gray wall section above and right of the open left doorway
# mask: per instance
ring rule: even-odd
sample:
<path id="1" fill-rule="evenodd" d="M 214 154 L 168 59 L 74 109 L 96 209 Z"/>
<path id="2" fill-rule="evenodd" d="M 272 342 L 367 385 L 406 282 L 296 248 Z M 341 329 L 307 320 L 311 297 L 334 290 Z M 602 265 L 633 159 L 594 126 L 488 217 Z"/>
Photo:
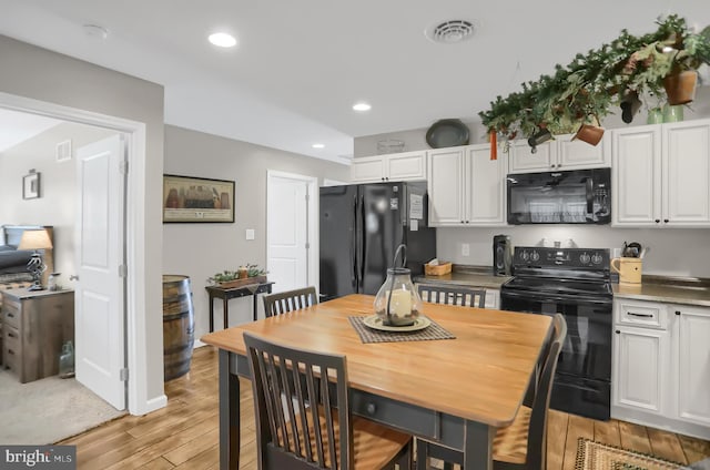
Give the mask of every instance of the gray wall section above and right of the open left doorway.
<path id="1" fill-rule="evenodd" d="M 136 358 L 144 386 L 138 390 L 145 403 L 163 397 L 162 317 L 162 170 L 163 170 L 163 88 L 123 73 L 58 54 L 24 42 L 0 35 L 0 90 L 110 116 L 145 123 L 144 181 L 134 181 L 145 193 L 145 206 L 128 207 L 142 214 L 135 237 L 142 241 L 140 253 L 143 273 L 138 290 L 145 294 L 145 305 L 136 313 L 138 325 L 145 325 L 139 337 L 130 338 L 138 350 Z M 130 214 L 131 215 L 131 214 Z"/>

